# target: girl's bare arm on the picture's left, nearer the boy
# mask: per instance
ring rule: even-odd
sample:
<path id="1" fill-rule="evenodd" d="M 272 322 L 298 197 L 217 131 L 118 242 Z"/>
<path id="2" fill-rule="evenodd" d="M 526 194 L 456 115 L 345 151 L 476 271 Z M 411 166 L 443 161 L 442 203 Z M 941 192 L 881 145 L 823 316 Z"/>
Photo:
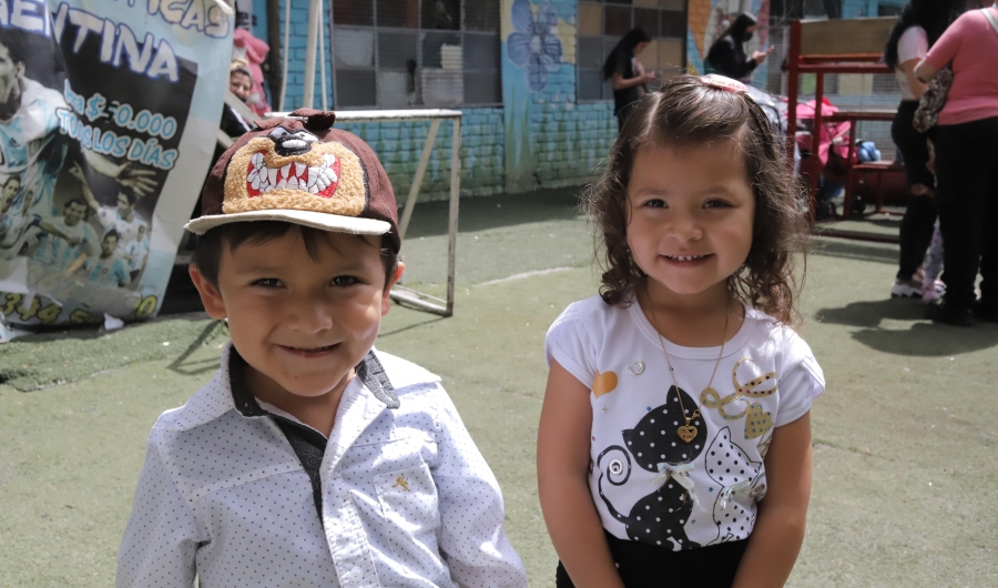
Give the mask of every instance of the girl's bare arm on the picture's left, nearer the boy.
<path id="1" fill-rule="evenodd" d="M 537 434 L 537 479 L 548 534 L 578 588 L 623 588 L 589 491 L 589 389 L 551 361 Z"/>

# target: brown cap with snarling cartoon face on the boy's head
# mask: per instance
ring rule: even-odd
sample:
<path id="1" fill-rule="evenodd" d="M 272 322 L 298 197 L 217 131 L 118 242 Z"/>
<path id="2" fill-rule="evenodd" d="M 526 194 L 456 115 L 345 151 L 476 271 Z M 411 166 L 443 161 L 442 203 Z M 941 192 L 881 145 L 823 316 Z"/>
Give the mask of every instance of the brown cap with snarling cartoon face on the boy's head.
<path id="1" fill-rule="evenodd" d="M 299 109 L 261 121 L 222 155 L 201 193 L 203 235 L 227 223 L 283 221 L 339 233 L 389 235 L 398 212 L 385 169 L 359 136 L 333 129 L 333 112 Z"/>

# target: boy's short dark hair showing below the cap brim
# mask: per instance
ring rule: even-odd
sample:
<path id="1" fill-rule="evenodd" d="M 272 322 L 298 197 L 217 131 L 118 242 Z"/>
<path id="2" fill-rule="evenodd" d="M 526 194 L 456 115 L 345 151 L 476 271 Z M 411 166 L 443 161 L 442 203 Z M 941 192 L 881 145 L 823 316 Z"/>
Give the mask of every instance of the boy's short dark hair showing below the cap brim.
<path id="1" fill-rule="evenodd" d="M 194 250 L 194 258 L 191 261 L 197 266 L 197 271 L 213 286 L 218 286 L 218 262 L 222 260 L 222 247 L 228 246 L 235 250 L 245 243 L 263 244 L 284 236 L 291 230 L 301 231 L 305 241 L 305 249 L 313 260 L 318 258 L 318 241 L 329 234 L 328 231 L 313 229 L 282 221 L 252 221 L 228 223 L 216 226 L 197 237 L 197 249 Z M 395 276 L 398 267 L 398 255 L 391 247 L 388 233 L 381 235 L 381 261 L 385 262 L 385 287 Z"/>

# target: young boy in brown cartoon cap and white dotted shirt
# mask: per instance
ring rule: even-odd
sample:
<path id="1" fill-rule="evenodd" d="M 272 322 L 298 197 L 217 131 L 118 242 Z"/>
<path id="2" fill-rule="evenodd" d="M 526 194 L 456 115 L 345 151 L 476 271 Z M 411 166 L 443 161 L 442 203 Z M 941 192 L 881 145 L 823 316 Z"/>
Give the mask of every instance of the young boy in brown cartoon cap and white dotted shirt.
<path id="1" fill-rule="evenodd" d="M 191 277 L 232 342 L 153 427 L 119 587 L 527 586 L 439 377 L 374 348 L 395 195 L 333 121 L 266 121 L 205 184 Z"/>

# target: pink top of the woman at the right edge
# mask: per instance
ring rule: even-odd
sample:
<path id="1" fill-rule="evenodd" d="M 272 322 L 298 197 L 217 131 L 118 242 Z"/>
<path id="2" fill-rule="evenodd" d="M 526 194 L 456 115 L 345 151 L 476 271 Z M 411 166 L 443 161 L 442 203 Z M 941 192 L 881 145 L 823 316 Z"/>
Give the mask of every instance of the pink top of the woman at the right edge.
<path id="1" fill-rule="evenodd" d="M 988 8 L 995 18 L 998 9 Z M 935 68 L 953 62 L 953 85 L 939 124 L 998 116 L 998 32 L 980 10 L 965 12 L 946 29 L 925 60 Z"/>

